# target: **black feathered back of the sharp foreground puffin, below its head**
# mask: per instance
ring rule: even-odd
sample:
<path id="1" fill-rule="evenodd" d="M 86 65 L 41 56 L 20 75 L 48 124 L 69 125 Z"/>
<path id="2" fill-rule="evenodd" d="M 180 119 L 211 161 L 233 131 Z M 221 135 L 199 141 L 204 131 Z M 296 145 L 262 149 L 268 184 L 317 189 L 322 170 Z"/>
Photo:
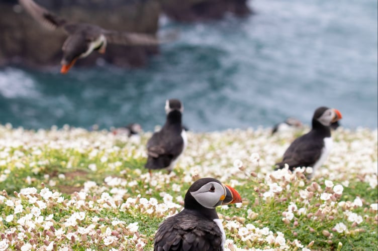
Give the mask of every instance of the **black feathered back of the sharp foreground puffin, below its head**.
<path id="1" fill-rule="evenodd" d="M 183 212 L 185 209 L 160 224 L 155 251 L 222 250 L 222 233 L 213 220 Z"/>

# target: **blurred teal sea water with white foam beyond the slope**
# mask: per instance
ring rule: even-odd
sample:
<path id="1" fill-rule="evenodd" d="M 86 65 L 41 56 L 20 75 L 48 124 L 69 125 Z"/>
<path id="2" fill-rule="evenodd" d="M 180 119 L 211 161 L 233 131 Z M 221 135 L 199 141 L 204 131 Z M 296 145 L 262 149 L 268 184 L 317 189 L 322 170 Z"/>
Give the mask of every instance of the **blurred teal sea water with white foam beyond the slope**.
<path id="1" fill-rule="evenodd" d="M 142 69 L 110 65 L 59 73 L 0 70 L 0 122 L 30 129 L 88 128 L 165 120 L 167 98 L 184 103 L 194 131 L 271 127 L 287 116 L 309 124 L 335 107 L 342 126 L 377 128 L 377 2 L 250 2 L 255 15 L 176 24 L 180 38 Z"/>

